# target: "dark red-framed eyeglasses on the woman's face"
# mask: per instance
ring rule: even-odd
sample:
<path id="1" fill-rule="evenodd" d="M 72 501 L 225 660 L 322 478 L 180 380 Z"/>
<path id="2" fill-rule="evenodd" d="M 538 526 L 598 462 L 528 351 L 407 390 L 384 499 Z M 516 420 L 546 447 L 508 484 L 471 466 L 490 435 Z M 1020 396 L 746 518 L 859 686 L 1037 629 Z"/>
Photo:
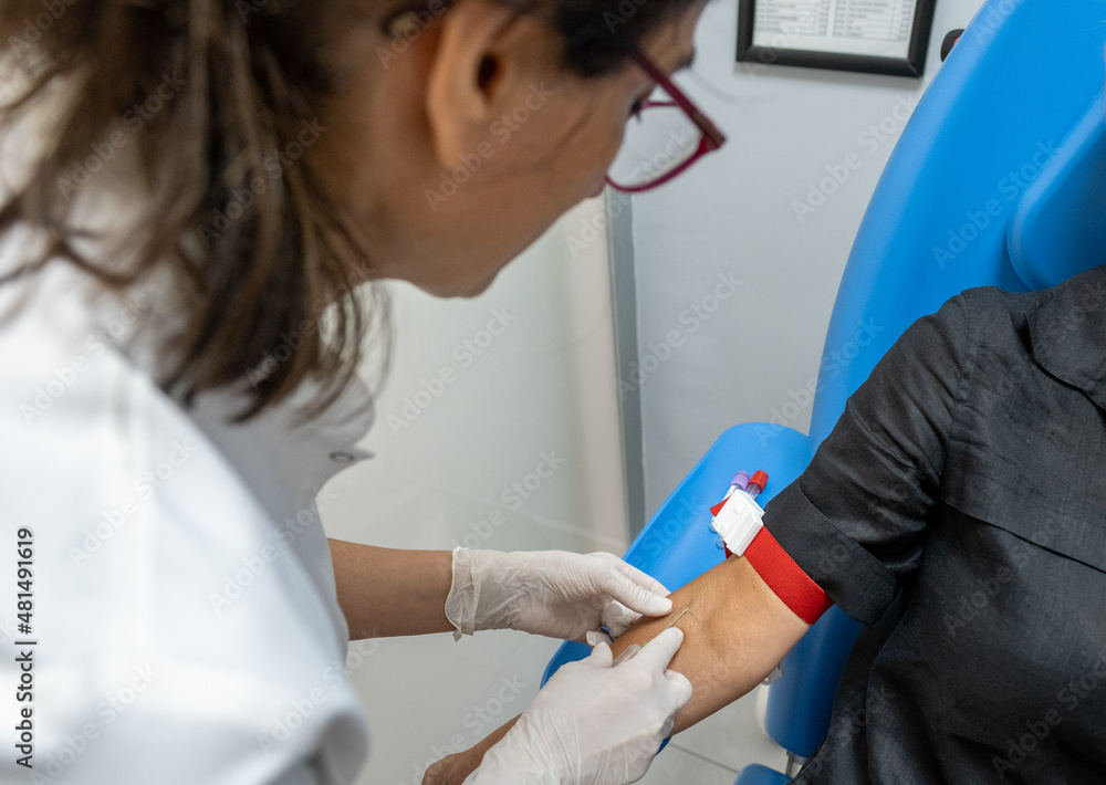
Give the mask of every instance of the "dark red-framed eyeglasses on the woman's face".
<path id="1" fill-rule="evenodd" d="M 607 172 L 612 188 L 640 193 L 687 171 L 726 144 L 726 135 L 641 52 L 634 62 L 668 95 L 647 101 L 627 123 L 626 137 Z"/>

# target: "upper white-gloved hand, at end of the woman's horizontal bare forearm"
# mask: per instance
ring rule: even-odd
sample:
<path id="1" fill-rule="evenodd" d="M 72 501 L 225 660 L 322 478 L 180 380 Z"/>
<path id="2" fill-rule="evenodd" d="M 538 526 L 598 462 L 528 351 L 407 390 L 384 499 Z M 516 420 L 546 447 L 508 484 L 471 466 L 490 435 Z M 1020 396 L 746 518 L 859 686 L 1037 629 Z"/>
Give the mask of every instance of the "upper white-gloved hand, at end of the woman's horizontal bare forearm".
<path id="1" fill-rule="evenodd" d="M 453 548 L 446 617 L 453 639 L 480 629 L 517 629 L 584 642 L 606 627 L 622 635 L 644 616 L 672 609 L 668 589 L 609 553 L 503 553 Z"/>

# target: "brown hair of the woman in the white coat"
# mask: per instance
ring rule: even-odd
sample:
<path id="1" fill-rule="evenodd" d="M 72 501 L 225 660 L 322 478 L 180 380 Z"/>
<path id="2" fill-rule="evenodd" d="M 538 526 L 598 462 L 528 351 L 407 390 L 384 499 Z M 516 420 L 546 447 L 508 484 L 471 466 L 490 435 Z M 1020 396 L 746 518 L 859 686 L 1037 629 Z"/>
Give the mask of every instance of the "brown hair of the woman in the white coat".
<path id="1" fill-rule="evenodd" d="M 623 64 L 690 4 L 522 1 L 503 0 L 559 29 L 563 66 L 583 76 Z M 304 156 L 319 134 L 312 106 L 335 86 L 327 44 L 349 14 L 420 11 L 385 2 L 0 0 L 0 133 L 11 137 L 46 101 L 56 109 L 25 185 L 0 205 L 0 234 L 23 221 L 45 230 L 50 248 L 0 271 L 0 283 L 62 258 L 123 290 L 167 261 L 184 282 L 182 321 L 158 381 L 186 401 L 237 385 L 251 401 L 241 419 L 309 376 L 323 387 L 306 414 L 321 411 L 353 375 L 366 334 L 380 341 L 386 367 L 388 304 L 371 253 Z M 140 154 L 149 196 L 115 257 L 133 263 L 108 269 L 77 250 L 73 197 L 126 145 Z"/>

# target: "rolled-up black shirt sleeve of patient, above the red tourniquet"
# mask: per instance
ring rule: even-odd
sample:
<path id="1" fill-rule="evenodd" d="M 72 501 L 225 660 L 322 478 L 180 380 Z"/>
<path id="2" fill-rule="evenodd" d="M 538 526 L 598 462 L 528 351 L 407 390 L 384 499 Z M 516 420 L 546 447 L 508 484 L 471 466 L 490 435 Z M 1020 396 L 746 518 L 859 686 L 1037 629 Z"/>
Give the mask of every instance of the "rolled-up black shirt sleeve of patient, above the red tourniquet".
<path id="1" fill-rule="evenodd" d="M 765 507 L 780 545 L 873 624 L 918 567 L 968 377 L 963 295 L 915 322 L 848 399 L 803 474 Z"/>

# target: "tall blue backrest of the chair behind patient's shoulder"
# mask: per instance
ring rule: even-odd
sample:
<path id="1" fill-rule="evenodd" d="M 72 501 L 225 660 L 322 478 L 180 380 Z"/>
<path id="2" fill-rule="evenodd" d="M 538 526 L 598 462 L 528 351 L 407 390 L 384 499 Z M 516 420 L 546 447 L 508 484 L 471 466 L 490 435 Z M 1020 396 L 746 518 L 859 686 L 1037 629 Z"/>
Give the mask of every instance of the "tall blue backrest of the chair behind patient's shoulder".
<path id="1" fill-rule="evenodd" d="M 863 322 L 883 332 L 820 379 L 812 447 L 902 332 L 949 297 L 1041 289 L 1106 262 L 1104 44 L 1104 0 L 990 0 L 968 25 L 857 233 L 826 353 Z"/>

